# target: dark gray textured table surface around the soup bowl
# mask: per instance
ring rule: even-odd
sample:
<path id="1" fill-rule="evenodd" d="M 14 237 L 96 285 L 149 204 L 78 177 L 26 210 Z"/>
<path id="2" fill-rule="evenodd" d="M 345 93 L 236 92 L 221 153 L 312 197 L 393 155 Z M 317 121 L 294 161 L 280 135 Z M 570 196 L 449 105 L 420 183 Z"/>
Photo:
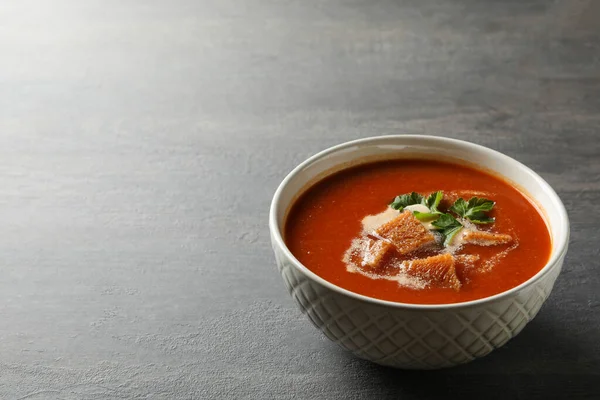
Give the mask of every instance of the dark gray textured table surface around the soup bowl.
<path id="1" fill-rule="evenodd" d="M 28 0 L 0 5 L 1 399 L 600 398 L 600 2 Z M 435 134 L 568 208 L 551 298 L 436 372 L 353 358 L 269 243 L 297 163 Z"/>

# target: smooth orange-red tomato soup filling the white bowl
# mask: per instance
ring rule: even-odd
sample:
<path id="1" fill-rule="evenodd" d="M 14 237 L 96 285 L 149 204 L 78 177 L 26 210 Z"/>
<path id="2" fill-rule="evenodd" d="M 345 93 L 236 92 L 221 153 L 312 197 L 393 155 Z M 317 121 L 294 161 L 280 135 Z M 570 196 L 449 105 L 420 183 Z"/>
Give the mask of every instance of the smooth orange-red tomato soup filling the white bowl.
<path id="1" fill-rule="evenodd" d="M 388 206 L 398 195 L 416 192 L 426 199 L 438 191 L 443 193 L 443 199 L 438 215 L 431 217 L 444 214 L 444 218 L 459 224 L 455 236 L 435 226 L 441 222 L 415 219 L 418 213 L 414 207 L 393 210 Z M 435 196 L 429 198 L 432 197 Z M 468 201 L 479 197 L 490 200 L 488 205 L 493 202 L 493 208 L 483 206 L 472 209 L 472 214 L 461 214 L 460 207 L 452 207 L 459 197 L 464 198 L 465 207 L 474 207 L 477 200 L 472 204 Z M 481 209 L 483 213 L 477 214 Z M 363 218 L 384 211 L 387 221 L 397 220 L 388 224 L 391 228 L 368 231 L 363 226 Z M 487 223 L 481 223 L 482 220 Z M 414 225 L 418 230 L 418 234 L 408 233 L 412 239 L 403 237 L 402 232 L 390 233 L 394 229 L 399 232 L 394 224 L 406 221 L 412 224 L 410 229 Z M 407 226 L 400 230 L 410 230 Z M 491 245 L 485 240 L 468 240 L 488 234 L 501 240 Z M 425 243 L 417 250 L 411 247 L 415 235 L 425 238 L 417 240 L 415 246 Z M 368 163 L 317 182 L 291 207 L 285 242 L 303 265 L 337 286 L 377 299 L 414 304 L 459 303 L 504 292 L 540 271 L 551 251 L 544 219 L 515 187 L 465 165 L 422 159 Z M 380 253 L 356 256 L 353 246 L 378 249 Z M 384 247 L 385 254 L 381 250 Z M 359 258 L 354 267 L 349 264 L 349 255 Z M 469 263 L 459 261 L 466 259 Z M 419 272 L 421 264 L 426 269 Z M 436 270 L 438 267 L 443 271 Z M 402 274 L 414 276 L 396 279 Z M 413 278 L 418 285 L 407 284 Z"/>

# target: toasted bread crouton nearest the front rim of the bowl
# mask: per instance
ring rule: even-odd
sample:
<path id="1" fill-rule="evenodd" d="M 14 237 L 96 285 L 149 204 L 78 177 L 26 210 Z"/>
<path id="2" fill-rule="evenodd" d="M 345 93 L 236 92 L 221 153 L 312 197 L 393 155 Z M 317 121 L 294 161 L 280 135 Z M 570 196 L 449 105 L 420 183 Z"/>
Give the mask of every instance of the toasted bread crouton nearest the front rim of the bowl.
<path id="1" fill-rule="evenodd" d="M 410 275 L 430 280 L 431 283 L 437 286 L 459 290 L 461 284 L 458 276 L 456 276 L 454 262 L 454 257 L 446 253 L 405 261 L 403 264 L 406 272 Z"/>

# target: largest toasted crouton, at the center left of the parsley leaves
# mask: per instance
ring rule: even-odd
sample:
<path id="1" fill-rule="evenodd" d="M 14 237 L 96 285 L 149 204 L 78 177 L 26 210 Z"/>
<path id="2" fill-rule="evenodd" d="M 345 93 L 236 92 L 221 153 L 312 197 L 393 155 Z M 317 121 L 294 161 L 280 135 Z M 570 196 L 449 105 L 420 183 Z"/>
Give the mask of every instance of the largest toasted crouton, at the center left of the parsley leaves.
<path id="1" fill-rule="evenodd" d="M 375 233 L 389 240 L 399 255 L 408 254 L 421 246 L 435 242 L 433 234 L 410 211 L 405 211 L 381 225 Z"/>

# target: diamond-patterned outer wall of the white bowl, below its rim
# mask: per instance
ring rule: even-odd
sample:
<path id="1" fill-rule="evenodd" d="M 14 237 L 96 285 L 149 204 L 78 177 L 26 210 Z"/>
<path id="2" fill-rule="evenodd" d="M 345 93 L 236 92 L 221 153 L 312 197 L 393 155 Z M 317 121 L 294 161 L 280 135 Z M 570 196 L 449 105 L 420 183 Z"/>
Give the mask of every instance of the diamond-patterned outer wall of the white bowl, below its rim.
<path id="1" fill-rule="evenodd" d="M 534 284 L 465 308 L 413 310 L 346 296 L 307 277 L 274 246 L 290 295 L 312 323 L 356 356 L 404 369 L 452 367 L 485 356 L 517 335 L 548 298 L 563 259 Z"/>

